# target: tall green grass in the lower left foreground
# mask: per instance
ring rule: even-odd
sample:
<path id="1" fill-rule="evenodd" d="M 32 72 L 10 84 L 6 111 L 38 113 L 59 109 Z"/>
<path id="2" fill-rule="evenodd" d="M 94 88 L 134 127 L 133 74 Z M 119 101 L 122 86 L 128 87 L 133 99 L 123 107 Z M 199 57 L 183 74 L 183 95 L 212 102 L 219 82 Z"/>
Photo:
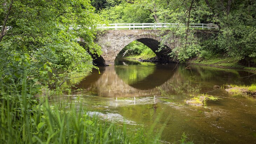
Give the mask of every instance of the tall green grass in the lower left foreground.
<path id="1" fill-rule="evenodd" d="M 161 132 L 155 137 L 143 128 L 128 131 L 126 124 L 117 126 L 97 116 L 88 116 L 80 107 L 59 103 L 31 105 L 26 84 L 18 100 L 5 94 L 0 101 L 0 143 L 159 143 Z M 161 130 L 162 131 L 162 130 Z"/>

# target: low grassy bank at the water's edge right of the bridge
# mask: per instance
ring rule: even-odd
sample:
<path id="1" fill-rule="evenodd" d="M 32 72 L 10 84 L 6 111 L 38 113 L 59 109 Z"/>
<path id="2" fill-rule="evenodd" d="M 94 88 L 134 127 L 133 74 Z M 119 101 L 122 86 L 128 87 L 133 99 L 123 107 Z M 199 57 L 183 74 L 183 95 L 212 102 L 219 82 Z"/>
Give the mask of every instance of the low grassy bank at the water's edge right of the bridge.
<path id="1" fill-rule="evenodd" d="M 208 59 L 197 58 L 194 60 L 190 60 L 189 63 L 223 68 L 237 68 L 256 72 L 255 67 L 249 67 L 249 65 L 244 66 L 241 63 L 239 63 L 239 60 L 237 60 L 234 57 L 212 56 Z"/>

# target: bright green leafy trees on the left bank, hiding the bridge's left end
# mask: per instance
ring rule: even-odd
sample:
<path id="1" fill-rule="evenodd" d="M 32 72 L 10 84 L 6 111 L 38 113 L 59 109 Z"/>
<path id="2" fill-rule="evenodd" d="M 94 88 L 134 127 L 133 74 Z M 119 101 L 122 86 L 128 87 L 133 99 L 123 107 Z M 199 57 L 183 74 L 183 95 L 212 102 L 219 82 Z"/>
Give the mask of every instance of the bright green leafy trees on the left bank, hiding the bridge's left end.
<path id="1" fill-rule="evenodd" d="M 94 43 L 98 20 L 88 0 L 7 0 L 0 7 L 0 23 L 6 24 L 0 35 L 0 95 L 7 90 L 19 95 L 24 76 L 27 89 L 35 95 L 39 84 L 47 84 L 53 68 L 83 71 L 94 67 L 88 64 L 92 61 L 88 52 L 101 54 Z M 79 37 L 84 47 L 77 42 Z"/>

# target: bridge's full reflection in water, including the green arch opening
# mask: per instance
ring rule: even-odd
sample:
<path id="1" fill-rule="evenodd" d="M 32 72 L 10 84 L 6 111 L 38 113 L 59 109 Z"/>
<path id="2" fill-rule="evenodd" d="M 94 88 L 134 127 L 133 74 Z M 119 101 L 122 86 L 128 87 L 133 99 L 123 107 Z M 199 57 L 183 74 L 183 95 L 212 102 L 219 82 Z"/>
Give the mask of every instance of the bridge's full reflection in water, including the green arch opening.
<path id="1" fill-rule="evenodd" d="M 96 92 L 103 97 L 134 97 L 161 95 L 156 88 L 168 81 L 173 69 L 163 66 L 116 66 L 102 67 L 101 74 L 93 70 L 78 88 Z"/>

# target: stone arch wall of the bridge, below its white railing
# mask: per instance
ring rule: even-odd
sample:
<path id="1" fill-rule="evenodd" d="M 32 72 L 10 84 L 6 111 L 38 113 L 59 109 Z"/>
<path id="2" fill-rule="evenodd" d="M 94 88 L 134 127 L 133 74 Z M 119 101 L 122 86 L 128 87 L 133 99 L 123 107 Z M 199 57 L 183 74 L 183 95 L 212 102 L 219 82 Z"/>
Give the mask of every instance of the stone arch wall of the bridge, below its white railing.
<path id="1" fill-rule="evenodd" d="M 167 31 L 166 31 L 167 32 Z M 101 46 L 103 54 L 101 59 L 97 64 L 101 65 L 113 65 L 115 57 L 117 54 L 129 43 L 137 40 L 156 53 L 156 56 L 160 58 L 163 62 L 169 60 L 167 55 L 169 49 L 175 47 L 174 43 L 166 43 L 166 49 L 156 52 L 158 50 L 160 41 L 162 40 L 161 36 L 164 33 L 161 33 L 160 30 L 150 30 L 150 29 L 140 29 L 140 30 L 106 30 L 104 34 L 97 36 L 97 43 Z"/>

